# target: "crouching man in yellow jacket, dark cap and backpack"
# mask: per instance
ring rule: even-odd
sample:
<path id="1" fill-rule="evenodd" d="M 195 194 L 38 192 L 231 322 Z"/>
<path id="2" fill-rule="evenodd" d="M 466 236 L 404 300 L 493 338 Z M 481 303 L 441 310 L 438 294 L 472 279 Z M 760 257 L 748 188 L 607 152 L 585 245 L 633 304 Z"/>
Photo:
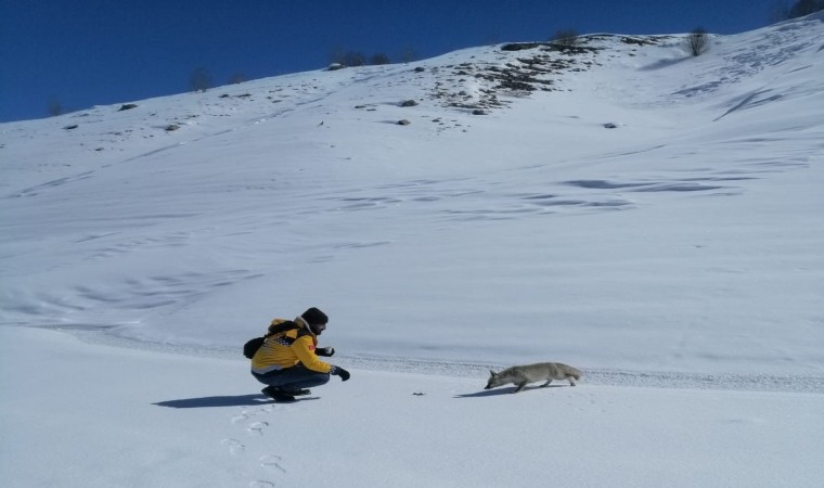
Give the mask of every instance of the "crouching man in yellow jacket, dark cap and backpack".
<path id="1" fill-rule="evenodd" d="M 294 321 L 274 319 L 263 345 L 252 358 L 252 375 L 269 385 L 263 395 L 275 401 L 294 401 L 309 395 L 308 388 L 329 382 L 330 375 L 349 380 L 349 372 L 318 359 L 335 354 L 332 347 L 318 348 L 318 336 L 326 330 L 329 318 L 312 307 Z"/>

